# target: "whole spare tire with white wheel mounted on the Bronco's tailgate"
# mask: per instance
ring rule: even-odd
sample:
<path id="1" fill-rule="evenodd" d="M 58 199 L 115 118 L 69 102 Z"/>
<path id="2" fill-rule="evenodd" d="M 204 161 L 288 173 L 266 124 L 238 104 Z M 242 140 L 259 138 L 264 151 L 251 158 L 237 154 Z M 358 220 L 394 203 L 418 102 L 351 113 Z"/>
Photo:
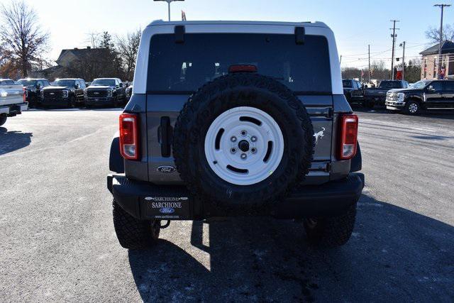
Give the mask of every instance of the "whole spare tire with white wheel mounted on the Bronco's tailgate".
<path id="1" fill-rule="evenodd" d="M 263 206 L 309 172 L 314 130 L 284 84 L 251 73 L 214 79 L 175 123 L 175 165 L 188 189 L 217 206 Z"/>

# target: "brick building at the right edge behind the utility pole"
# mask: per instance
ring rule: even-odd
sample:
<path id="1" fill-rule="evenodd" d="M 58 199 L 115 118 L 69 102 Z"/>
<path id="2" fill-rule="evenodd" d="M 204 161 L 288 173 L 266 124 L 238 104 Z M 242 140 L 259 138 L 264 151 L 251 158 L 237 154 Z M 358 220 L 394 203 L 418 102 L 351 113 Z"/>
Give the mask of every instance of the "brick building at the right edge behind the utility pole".
<path id="1" fill-rule="evenodd" d="M 438 45 L 433 45 L 427 50 L 423 50 L 421 79 L 436 79 L 438 78 Z M 441 68 L 445 71 L 445 77 L 454 75 L 454 43 L 445 40 L 441 45 Z"/>

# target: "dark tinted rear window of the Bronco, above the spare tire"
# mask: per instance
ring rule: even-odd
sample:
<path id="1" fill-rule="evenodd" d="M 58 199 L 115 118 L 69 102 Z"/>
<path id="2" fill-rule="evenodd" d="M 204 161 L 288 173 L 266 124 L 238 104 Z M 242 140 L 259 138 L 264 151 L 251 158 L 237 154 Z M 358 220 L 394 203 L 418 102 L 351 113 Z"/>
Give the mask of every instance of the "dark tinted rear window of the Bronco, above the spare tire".
<path id="1" fill-rule="evenodd" d="M 192 33 L 184 43 L 175 35 L 153 35 L 147 90 L 150 93 L 195 92 L 204 83 L 228 74 L 231 65 L 255 65 L 260 75 L 286 84 L 297 93 L 331 94 L 328 41 L 306 35 Z"/>

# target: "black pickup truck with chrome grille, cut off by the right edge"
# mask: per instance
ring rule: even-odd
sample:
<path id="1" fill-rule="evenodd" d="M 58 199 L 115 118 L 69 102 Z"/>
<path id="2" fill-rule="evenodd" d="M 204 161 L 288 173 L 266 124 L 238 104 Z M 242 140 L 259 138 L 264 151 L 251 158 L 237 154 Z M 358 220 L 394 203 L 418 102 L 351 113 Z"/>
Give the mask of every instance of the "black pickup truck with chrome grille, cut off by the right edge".
<path id="1" fill-rule="evenodd" d="M 391 89 L 386 107 L 409 115 L 423 109 L 454 109 L 454 80 L 421 80 L 409 89 Z"/>

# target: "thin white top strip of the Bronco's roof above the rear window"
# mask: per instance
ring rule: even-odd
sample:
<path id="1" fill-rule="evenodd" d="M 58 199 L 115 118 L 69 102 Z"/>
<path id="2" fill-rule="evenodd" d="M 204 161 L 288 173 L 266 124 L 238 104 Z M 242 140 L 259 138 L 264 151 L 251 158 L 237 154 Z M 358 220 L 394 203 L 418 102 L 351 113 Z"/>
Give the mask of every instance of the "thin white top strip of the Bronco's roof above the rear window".
<path id="1" fill-rule="evenodd" d="M 279 21 L 163 21 L 155 20 L 148 26 L 184 26 L 196 24 L 240 24 L 240 25 L 257 25 L 257 26 L 313 26 L 319 28 L 328 28 L 325 23 L 320 21 L 304 21 L 304 22 L 279 22 Z"/>

